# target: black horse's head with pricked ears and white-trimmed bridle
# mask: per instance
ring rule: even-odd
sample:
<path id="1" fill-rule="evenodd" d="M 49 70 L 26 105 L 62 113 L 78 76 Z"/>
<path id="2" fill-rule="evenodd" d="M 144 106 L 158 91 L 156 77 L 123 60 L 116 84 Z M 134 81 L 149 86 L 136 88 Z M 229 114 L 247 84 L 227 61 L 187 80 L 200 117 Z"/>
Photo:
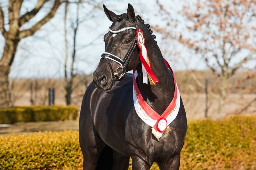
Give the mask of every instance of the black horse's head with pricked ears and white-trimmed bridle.
<path id="1" fill-rule="evenodd" d="M 139 24 L 146 29 L 147 27 L 143 20 L 141 24 L 140 17 L 135 16 L 131 4 L 128 4 L 127 13 L 121 15 L 109 11 L 105 5 L 103 8 L 108 19 L 113 23 L 104 36 L 105 52 L 101 55 L 100 63 L 93 73 L 93 82 L 99 90 L 110 90 L 115 81 L 122 81 L 127 71 L 139 65 L 136 30 Z"/>

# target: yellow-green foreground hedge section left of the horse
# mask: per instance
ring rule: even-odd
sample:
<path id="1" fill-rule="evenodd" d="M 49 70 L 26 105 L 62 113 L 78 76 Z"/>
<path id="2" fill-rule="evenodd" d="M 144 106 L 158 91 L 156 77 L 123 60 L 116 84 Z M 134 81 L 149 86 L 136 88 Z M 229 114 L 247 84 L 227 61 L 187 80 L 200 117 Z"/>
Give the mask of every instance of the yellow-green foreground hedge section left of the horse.
<path id="1" fill-rule="evenodd" d="M 77 131 L 0 137 L 0 169 L 82 169 Z"/>

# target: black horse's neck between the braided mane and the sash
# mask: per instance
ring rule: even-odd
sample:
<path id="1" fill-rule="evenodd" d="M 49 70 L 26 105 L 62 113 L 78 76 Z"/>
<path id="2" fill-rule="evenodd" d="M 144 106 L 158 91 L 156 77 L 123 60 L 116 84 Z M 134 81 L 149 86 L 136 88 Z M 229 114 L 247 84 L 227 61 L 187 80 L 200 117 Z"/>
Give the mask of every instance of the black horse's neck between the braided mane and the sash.
<path id="1" fill-rule="evenodd" d="M 144 26 L 145 27 L 145 26 Z M 138 72 L 138 83 L 143 99 L 152 107 L 159 115 L 162 115 L 165 109 L 171 103 L 174 97 L 174 81 L 172 73 L 167 68 L 163 55 L 157 46 L 154 38 L 149 31 L 142 27 L 142 32 L 145 36 L 145 46 L 148 51 L 148 58 L 151 68 L 158 78 L 159 82 L 156 85 L 143 84 L 143 74 L 141 64 L 136 68 Z"/>

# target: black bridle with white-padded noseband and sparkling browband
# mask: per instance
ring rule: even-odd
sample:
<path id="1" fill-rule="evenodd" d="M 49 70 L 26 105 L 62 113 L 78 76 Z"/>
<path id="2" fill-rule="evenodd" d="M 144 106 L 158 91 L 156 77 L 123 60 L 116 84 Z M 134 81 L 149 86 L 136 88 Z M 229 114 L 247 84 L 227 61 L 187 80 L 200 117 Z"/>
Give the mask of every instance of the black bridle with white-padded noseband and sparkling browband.
<path id="1" fill-rule="evenodd" d="M 110 33 L 121 33 L 121 32 L 123 32 L 123 31 L 126 31 L 126 30 L 137 30 L 139 28 L 139 25 L 138 25 L 138 22 L 136 22 L 136 27 L 133 27 L 133 26 L 128 26 L 128 27 L 124 27 L 124 28 L 121 28 L 121 29 L 119 29 L 119 30 L 117 30 L 117 31 L 114 31 L 114 30 L 111 30 L 110 29 L 110 27 L 108 28 L 108 31 L 110 32 Z M 113 78 L 113 80 L 114 80 L 114 85 L 115 85 L 115 76 L 118 76 L 119 78 L 118 79 L 116 79 L 117 81 L 121 81 L 121 80 L 123 80 L 123 78 L 126 76 L 126 71 L 125 71 L 125 68 L 126 68 L 126 66 L 127 66 L 127 64 L 129 63 L 129 61 L 130 61 L 130 58 L 131 58 L 131 55 L 132 55 L 132 52 L 134 51 L 134 49 L 135 49 L 135 47 L 137 46 L 137 40 L 136 40 L 136 36 L 135 36 L 135 38 L 134 38 L 134 41 L 133 41 L 133 43 L 132 43 L 132 47 L 130 48 L 130 50 L 129 50 L 129 52 L 128 52 L 128 54 L 126 55 L 126 57 L 125 57 L 125 59 L 124 60 L 122 60 L 121 58 L 119 58 L 119 57 L 117 57 L 116 55 L 113 55 L 113 54 L 111 54 L 111 53 L 103 53 L 102 55 L 101 55 L 101 59 L 105 59 L 106 60 L 106 62 L 108 63 L 108 65 L 109 65 L 109 67 L 110 67 L 110 70 L 111 70 L 111 73 L 112 73 L 112 78 Z M 110 64 L 110 62 L 109 62 L 109 60 L 108 59 L 110 59 L 110 60 L 112 60 L 112 61 L 114 61 L 114 62 L 116 62 L 116 63 L 118 63 L 120 66 L 116 69 L 116 72 L 114 72 L 113 71 L 113 69 L 112 69 L 112 66 L 111 66 L 111 64 Z M 121 75 L 119 76 L 118 75 L 118 73 L 117 73 L 117 70 L 119 69 L 119 68 L 121 68 L 122 69 L 122 73 L 121 73 Z"/>

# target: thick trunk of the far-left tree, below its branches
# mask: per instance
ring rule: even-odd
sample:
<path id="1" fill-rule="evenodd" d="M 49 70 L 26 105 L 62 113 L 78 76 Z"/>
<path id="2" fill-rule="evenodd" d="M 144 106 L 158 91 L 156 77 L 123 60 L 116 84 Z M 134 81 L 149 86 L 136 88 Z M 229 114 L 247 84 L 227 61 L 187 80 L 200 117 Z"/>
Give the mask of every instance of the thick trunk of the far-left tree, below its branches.
<path id="1" fill-rule="evenodd" d="M 19 40 L 6 39 L 4 53 L 0 60 L 0 108 L 11 107 L 11 92 L 9 89 L 8 75 L 18 47 Z"/>

